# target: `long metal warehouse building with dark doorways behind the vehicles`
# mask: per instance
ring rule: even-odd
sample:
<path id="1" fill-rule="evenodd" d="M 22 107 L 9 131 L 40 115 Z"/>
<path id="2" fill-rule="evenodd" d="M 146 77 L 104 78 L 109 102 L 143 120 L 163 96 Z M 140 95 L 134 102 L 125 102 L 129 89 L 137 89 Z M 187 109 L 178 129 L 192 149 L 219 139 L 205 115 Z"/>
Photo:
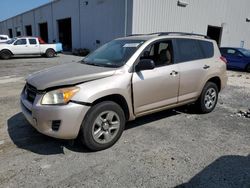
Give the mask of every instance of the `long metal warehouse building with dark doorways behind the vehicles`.
<path id="1" fill-rule="evenodd" d="M 0 34 L 93 50 L 130 34 L 179 31 L 250 48 L 249 9 L 249 0 L 55 0 L 0 22 Z"/>

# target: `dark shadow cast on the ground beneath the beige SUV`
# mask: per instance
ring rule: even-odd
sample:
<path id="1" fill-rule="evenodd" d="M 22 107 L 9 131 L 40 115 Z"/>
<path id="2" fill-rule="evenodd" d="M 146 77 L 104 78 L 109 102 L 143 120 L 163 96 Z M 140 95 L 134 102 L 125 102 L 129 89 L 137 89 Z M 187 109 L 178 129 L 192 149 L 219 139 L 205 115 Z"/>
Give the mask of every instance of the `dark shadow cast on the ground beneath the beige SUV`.
<path id="1" fill-rule="evenodd" d="M 129 122 L 125 130 L 142 126 L 146 123 L 157 121 L 177 114 L 179 114 L 179 112 L 168 110 L 141 117 L 135 121 Z M 59 140 L 37 132 L 26 121 L 22 113 L 18 113 L 9 118 L 7 124 L 9 136 L 18 148 L 22 148 L 41 155 L 62 154 L 64 153 L 63 148 L 67 148 L 75 152 L 90 152 L 80 142 L 79 138 L 75 141 Z"/>

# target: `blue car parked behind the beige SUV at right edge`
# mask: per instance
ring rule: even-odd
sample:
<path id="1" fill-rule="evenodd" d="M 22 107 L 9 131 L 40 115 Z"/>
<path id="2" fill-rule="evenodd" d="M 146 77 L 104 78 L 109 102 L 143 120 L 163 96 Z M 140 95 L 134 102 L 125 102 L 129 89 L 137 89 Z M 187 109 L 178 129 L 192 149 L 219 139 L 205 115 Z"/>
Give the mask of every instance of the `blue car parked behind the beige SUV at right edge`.
<path id="1" fill-rule="evenodd" d="M 227 59 L 228 69 L 250 72 L 250 50 L 244 48 L 220 48 L 221 54 Z"/>

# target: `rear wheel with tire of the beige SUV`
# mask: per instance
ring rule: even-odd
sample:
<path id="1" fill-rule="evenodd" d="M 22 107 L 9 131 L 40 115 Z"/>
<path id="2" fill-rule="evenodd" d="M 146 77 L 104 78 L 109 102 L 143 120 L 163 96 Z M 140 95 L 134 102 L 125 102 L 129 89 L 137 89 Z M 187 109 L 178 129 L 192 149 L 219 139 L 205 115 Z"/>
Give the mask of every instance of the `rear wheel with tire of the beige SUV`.
<path id="1" fill-rule="evenodd" d="M 206 114 L 214 110 L 218 101 L 218 87 L 213 82 L 207 82 L 197 101 L 199 112 Z"/>

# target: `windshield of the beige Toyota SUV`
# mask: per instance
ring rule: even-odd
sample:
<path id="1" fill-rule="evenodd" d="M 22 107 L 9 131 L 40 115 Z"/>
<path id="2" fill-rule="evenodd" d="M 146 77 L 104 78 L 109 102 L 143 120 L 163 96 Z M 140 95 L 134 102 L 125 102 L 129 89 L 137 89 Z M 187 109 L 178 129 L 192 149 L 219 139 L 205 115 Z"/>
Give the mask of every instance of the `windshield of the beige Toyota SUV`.
<path id="1" fill-rule="evenodd" d="M 144 43 L 142 40 L 113 40 L 83 59 L 90 65 L 121 67 Z"/>

